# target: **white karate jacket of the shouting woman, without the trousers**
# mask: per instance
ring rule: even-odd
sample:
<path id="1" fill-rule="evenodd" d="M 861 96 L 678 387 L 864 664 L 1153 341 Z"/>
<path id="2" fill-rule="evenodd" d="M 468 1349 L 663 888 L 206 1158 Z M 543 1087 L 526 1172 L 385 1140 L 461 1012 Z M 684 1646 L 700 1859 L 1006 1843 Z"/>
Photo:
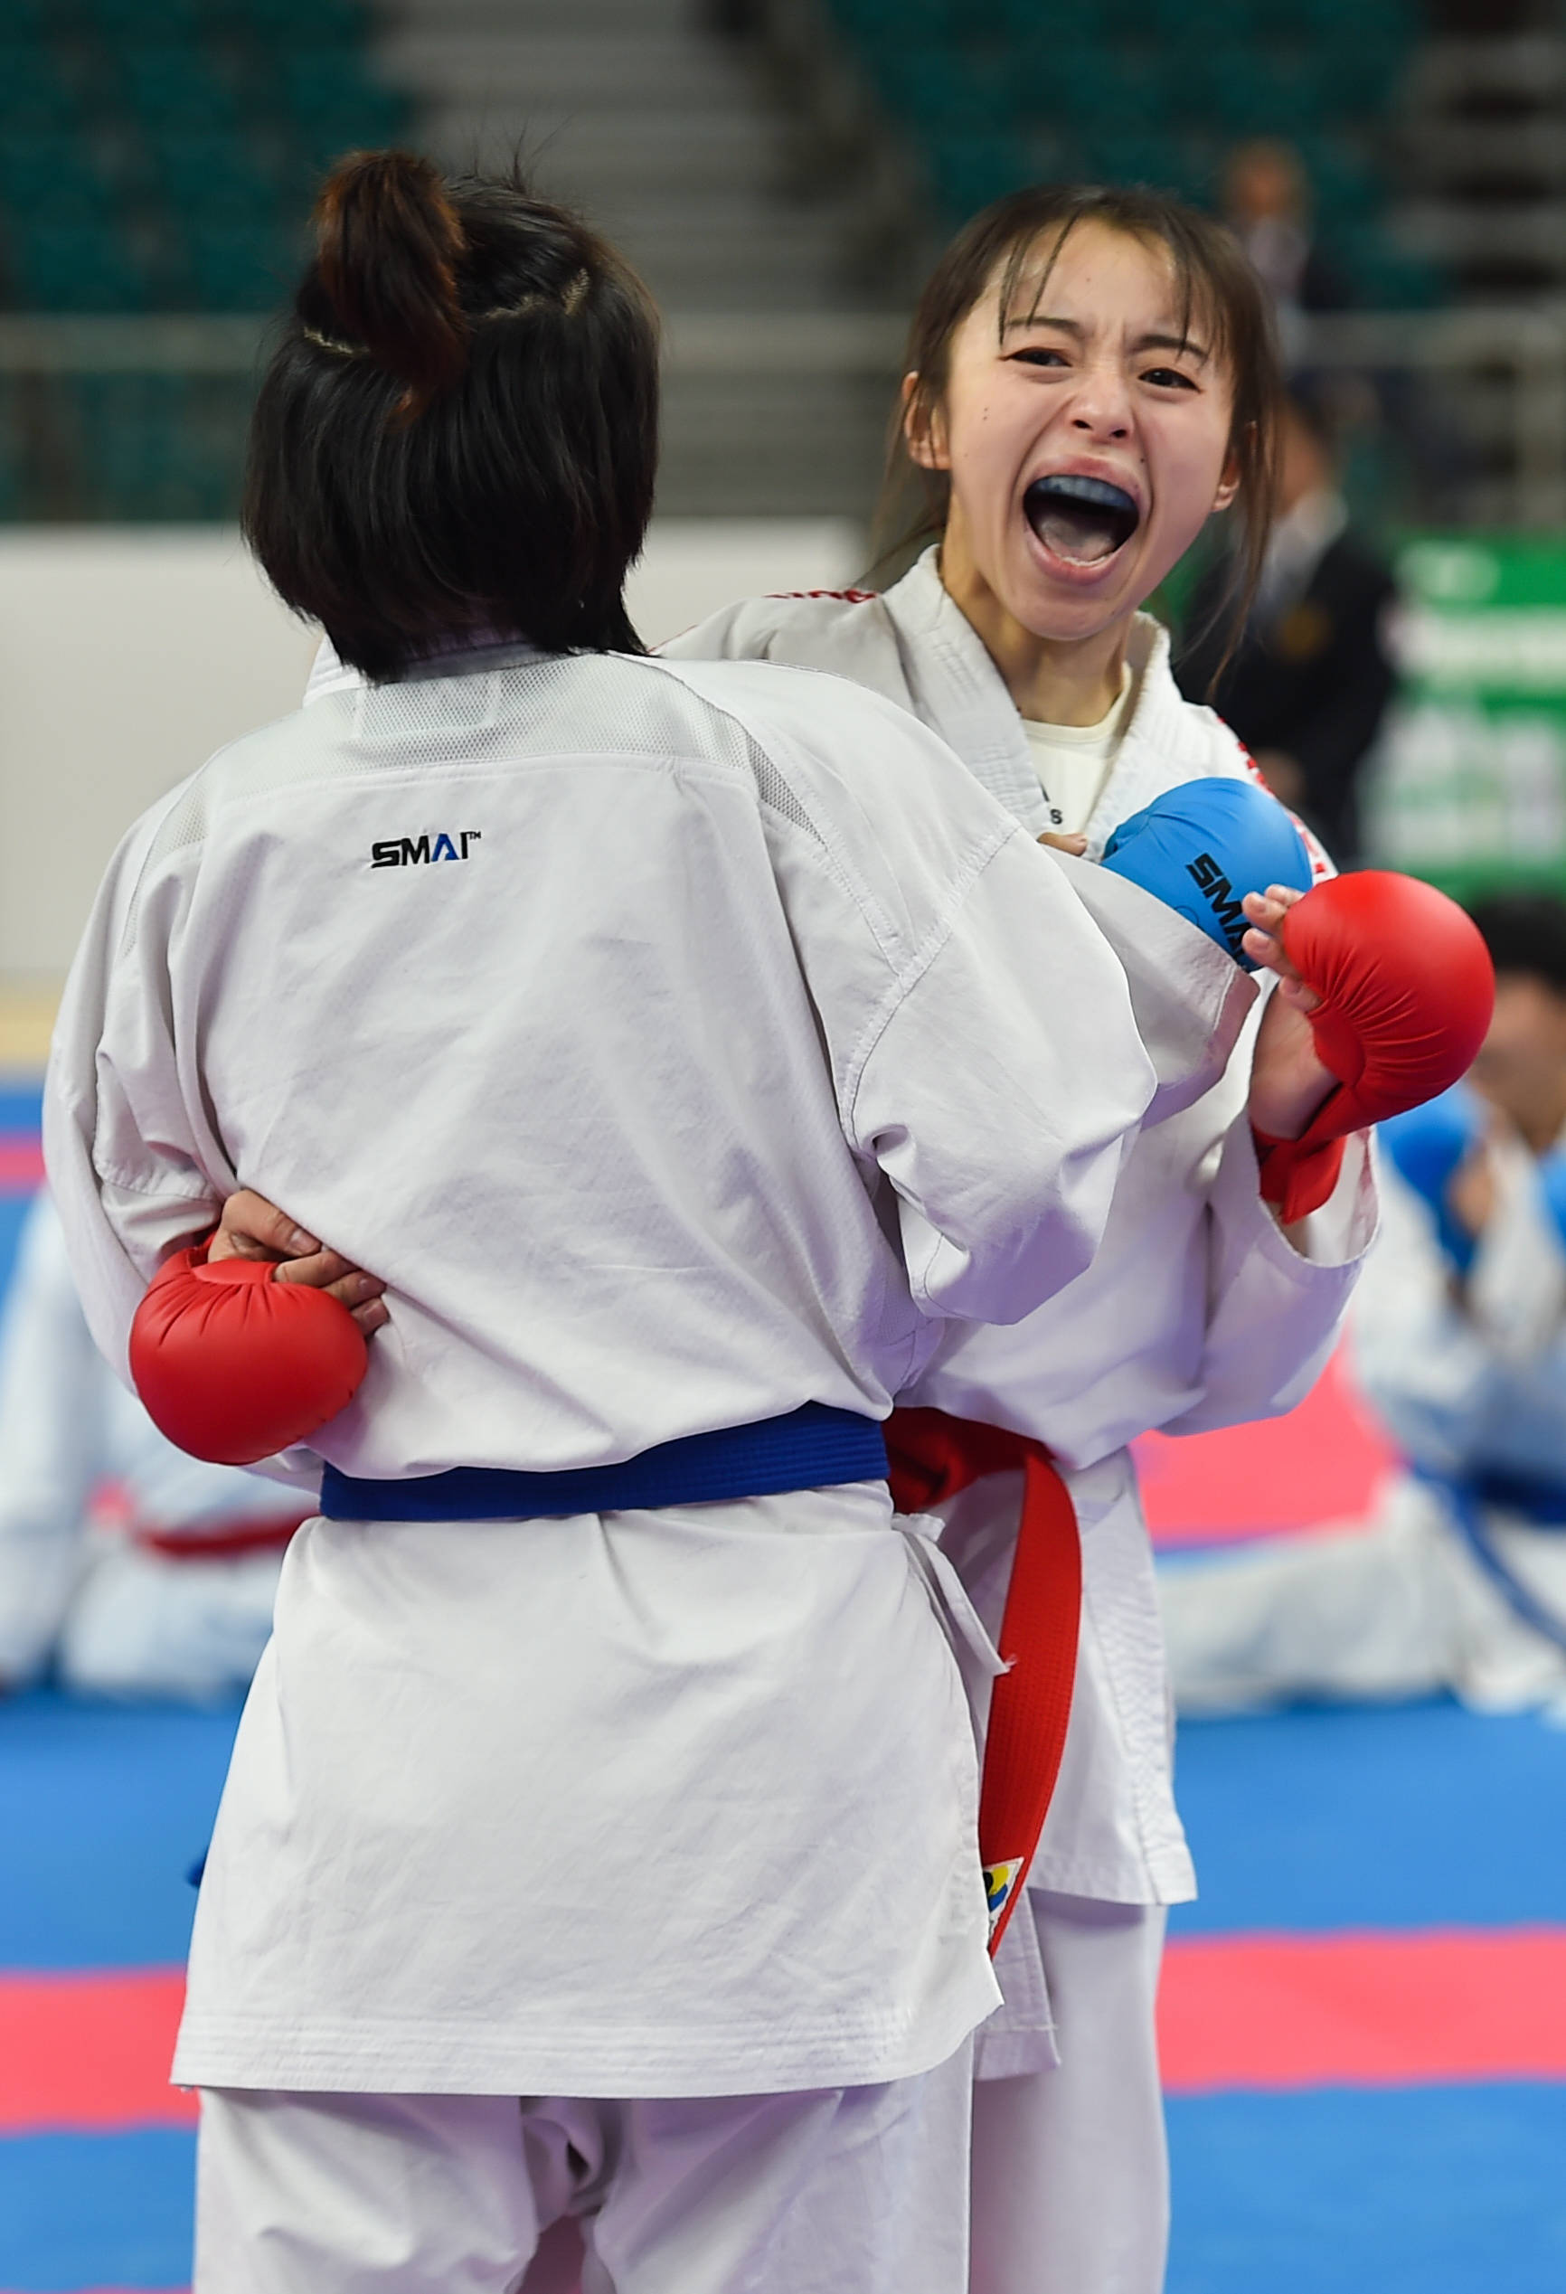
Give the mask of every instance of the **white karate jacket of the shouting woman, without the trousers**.
<path id="1" fill-rule="evenodd" d="M 1041 835 L 1050 826 L 1023 720 L 977 631 L 947 596 L 935 551 L 883 596 L 747 599 L 665 654 L 789 661 L 869 686 L 940 732 L 1025 830 Z M 1213 711 L 1181 697 L 1158 622 L 1137 617 L 1128 658 L 1135 700 L 1087 824 L 1089 860 L 1066 863 L 1078 885 L 1112 883 L 1091 863 L 1119 821 L 1165 789 L 1252 771 Z M 1174 1007 L 1185 1002 L 1190 1023 L 1192 1000 L 1217 998 L 1224 982 L 1245 1002 L 1256 991 L 1192 927 L 1174 915 L 1156 920 L 1156 906 L 1142 904 L 1130 920 L 1107 906 L 1098 913 L 1133 984 L 1149 968 L 1167 984 L 1162 1009 L 1140 1005 L 1158 1058 L 1165 1030 L 1179 1037 Z M 1057 993 L 1066 993 L 1064 984 Z M 1364 1142 L 1350 1140 L 1337 1193 L 1305 1223 L 1300 1248 L 1284 1239 L 1256 1191 L 1245 1119 L 1250 1037 L 1236 1044 L 1234 1005 L 1224 1009 L 1211 1048 L 1231 1053 L 1227 1064 L 1192 1103 L 1176 1090 L 1151 1108 L 1091 1269 L 1007 1331 L 949 1331 L 903 1392 L 903 1402 L 1034 1434 L 1066 1470 L 1082 1528 L 1082 1645 L 1032 1886 L 1114 1902 L 1179 1902 L 1195 1893 L 1174 1808 L 1153 1560 L 1128 1443 L 1153 1427 L 1197 1434 L 1302 1399 L 1334 1344 L 1376 1227 L 1369 1156 Z M 1009 1571 L 1002 1530 L 995 1484 L 956 1500 L 952 1551 L 991 1626 Z M 1009 1936 L 1018 1929 L 1013 1920 Z"/>

